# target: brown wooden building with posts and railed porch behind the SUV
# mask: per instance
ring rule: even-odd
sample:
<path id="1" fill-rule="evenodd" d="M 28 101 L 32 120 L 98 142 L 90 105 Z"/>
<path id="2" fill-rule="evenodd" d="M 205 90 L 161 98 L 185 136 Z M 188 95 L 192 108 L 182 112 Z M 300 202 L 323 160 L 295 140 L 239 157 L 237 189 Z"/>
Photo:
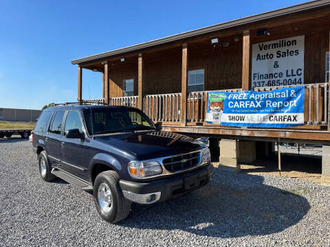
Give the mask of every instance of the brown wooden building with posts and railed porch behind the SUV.
<path id="1" fill-rule="evenodd" d="M 298 36 L 304 40 L 300 62 L 304 68 L 305 126 L 206 124 L 208 91 L 269 91 L 289 86 L 256 84 L 252 47 Z M 102 73 L 106 104 L 141 108 L 153 121 L 162 122 L 164 130 L 219 139 L 320 143 L 327 149 L 329 36 L 330 1 L 320 0 L 80 58 L 72 61 L 78 65 L 78 101 L 83 100 L 83 69 L 90 69 Z M 235 148 L 237 143 L 233 145 Z M 330 161 L 328 165 L 330 178 Z"/>

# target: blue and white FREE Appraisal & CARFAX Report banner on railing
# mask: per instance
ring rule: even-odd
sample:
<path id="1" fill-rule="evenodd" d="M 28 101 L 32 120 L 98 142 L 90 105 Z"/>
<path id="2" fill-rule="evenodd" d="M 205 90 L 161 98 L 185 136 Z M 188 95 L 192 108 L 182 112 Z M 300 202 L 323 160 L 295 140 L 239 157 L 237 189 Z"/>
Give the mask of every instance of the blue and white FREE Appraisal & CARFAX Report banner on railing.
<path id="1" fill-rule="evenodd" d="M 304 125 L 304 86 L 267 92 L 208 92 L 206 122 L 223 126 L 275 127 Z"/>

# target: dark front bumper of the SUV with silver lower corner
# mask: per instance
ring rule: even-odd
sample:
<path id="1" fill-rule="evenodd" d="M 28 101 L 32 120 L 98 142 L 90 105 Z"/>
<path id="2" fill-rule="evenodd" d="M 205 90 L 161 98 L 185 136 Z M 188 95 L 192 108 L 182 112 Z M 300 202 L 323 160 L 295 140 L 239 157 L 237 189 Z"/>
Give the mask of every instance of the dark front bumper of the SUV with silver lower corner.
<path id="1" fill-rule="evenodd" d="M 137 203 L 151 204 L 180 196 L 206 185 L 213 174 L 211 164 L 177 176 L 137 183 L 120 180 L 124 197 Z"/>

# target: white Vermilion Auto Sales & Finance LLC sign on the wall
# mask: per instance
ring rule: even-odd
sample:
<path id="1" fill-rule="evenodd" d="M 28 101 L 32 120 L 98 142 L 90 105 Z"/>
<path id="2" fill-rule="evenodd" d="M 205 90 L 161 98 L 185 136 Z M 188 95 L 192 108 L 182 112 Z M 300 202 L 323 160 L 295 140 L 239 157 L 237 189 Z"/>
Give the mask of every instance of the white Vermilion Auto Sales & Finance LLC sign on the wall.
<path id="1" fill-rule="evenodd" d="M 252 88 L 304 84 L 305 36 L 252 45 Z"/>

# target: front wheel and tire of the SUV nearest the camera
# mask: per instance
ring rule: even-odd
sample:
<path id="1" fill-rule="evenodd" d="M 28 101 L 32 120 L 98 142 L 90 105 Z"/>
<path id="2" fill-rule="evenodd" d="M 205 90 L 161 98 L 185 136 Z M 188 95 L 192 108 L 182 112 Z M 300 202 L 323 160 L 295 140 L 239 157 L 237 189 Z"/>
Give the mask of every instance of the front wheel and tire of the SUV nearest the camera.
<path id="1" fill-rule="evenodd" d="M 131 209 L 131 202 L 124 198 L 119 180 L 120 177 L 117 172 L 105 171 L 98 174 L 94 182 L 93 193 L 96 209 L 98 209 L 98 213 L 103 220 L 111 223 L 124 220 L 129 215 Z M 103 188 L 107 196 L 104 196 Z M 110 197 L 111 200 L 109 200 Z M 107 204 L 104 205 L 105 201 L 107 201 Z"/>

